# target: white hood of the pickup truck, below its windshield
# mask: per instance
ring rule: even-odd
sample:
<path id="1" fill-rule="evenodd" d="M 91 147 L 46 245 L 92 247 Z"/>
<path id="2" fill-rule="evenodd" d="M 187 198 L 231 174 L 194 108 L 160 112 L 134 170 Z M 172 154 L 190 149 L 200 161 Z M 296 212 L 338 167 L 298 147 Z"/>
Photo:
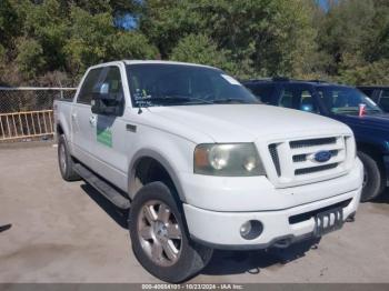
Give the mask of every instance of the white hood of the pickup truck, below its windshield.
<path id="1" fill-rule="evenodd" d="M 286 138 L 291 133 L 295 137 L 298 133 L 351 134 L 347 126 L 336 120 L 265 104 L 151 107 L 149 110 L 177 127 L 186 127 L 187 131 L 207 134 L 215 142 L 249 142 L 262 137 Z"/>

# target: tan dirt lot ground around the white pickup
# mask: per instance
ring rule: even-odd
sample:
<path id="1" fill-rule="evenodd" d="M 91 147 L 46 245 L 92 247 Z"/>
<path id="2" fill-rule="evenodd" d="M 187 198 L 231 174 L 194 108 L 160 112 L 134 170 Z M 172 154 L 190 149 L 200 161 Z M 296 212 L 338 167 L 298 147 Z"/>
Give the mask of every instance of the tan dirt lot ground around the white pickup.
<path id="1" fill-rule="evenodd" d="M 57 149 L 0 148 L 0 282 L 158 282 L 132 255 L 126 213 L 61 180 Z M 318 249 L 217 251 L 192 282 L 389 282 L 389 192 Z M 258 272 L 259 271 L 259 272 Z"/>

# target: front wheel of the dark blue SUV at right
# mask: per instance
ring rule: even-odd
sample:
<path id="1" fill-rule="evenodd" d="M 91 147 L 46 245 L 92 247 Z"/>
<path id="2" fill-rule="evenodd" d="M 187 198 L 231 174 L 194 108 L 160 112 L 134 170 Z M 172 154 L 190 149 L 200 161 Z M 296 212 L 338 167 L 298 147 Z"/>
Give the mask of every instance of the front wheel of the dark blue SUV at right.
<path id="1" fill-rule="evenodd" d="M 381 167 L 371 155 L 358 151 L 358 157 L 363 163 L 363 188 L 360 201 L 366 202 L 378 197 L 385 189 Z"/>

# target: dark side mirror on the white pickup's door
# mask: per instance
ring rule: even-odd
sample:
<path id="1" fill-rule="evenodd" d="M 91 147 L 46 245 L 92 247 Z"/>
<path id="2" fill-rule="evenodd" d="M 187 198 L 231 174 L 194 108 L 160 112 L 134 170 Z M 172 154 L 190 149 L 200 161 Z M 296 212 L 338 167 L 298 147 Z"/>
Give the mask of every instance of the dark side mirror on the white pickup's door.
<path id="1" fill-rule="evenodd" d="M 122 92 L 109 92 L 109 83 L 102 83 L 99 90 L 92 93 L 91 110 L 96 114 L 120 117 L 123 106 Z"/>

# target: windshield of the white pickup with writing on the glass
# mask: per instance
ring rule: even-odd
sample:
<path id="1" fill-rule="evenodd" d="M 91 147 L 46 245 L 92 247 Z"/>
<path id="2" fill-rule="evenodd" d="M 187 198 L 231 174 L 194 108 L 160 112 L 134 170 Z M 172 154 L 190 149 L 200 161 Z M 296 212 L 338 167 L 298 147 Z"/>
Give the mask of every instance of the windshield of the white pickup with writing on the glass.
<path id="1" fill-rule="evenodd" d="M 218 69 L 164 63 L 127 67 L 134 107 L 258 103 L 237 80 Z"/>

